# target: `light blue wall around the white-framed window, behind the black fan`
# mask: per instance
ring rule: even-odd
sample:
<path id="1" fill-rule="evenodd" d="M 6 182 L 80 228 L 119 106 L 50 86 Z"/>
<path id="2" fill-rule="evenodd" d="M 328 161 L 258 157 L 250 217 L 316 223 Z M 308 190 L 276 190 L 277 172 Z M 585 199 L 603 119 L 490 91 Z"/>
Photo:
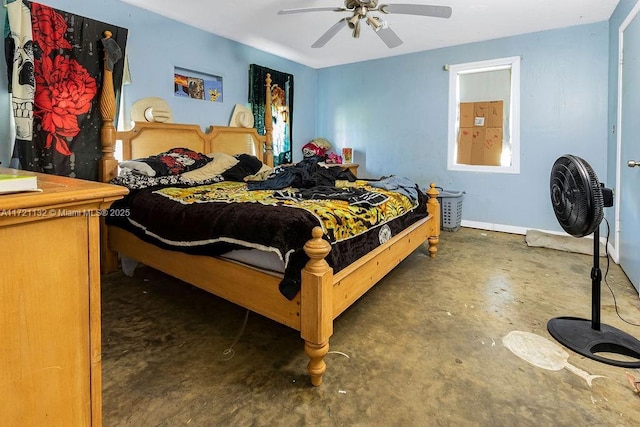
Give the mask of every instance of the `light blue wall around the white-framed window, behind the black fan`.
<path id="1" fill-rule="evenodd" d="M 553 162 L 573 153 L 607 172 L 608 31 L 601 22 L 321 69 L 318 133 L 354 147 L 363 175 L 464 190 L 465 221 L 560 231 Z M 443 66 L 518 55 L 521 173 L 448 171 Z"/>

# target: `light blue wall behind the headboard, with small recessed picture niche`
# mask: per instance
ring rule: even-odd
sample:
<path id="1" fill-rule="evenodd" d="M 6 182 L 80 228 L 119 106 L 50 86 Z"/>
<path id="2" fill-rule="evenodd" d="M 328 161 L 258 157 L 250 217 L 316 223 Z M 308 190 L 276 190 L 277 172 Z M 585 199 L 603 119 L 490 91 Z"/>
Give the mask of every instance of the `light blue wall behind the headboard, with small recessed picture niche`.
<path id="1" fill-rule="evenodd" d="M 316 80 L 313 68 L 250 48 L 229 39 L 167 19 L 158 14 L 113 0 L 46 0 L 41 3 L 129 29 L 127 54 L 132 84 L 123 90 L 125 117 L 138 99 L 148 96 L 164 98 L 177 123 L 227 125 L 236 103 L 246 103 L 249 64 L 256 63 L 294 75 L 294 145 L 315 136 Z M 2 29 L 4 34 L 4 13 Z M 4 44 L 2 58 L 4 58 Z M 8 166 L 9 101 L 6 64 L 0 61 L 0 161 Z M 223 77 L 224 102 L 213 103 L 173 94 L 174 67 L 181 67 Z M 299 150 L 298 150 L 299 151 Z"/>

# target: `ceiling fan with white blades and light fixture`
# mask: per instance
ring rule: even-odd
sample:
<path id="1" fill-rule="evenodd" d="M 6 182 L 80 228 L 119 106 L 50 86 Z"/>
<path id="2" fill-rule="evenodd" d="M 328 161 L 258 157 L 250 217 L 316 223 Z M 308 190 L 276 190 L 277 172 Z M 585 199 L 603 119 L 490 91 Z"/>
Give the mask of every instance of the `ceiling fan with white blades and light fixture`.
<path id="1" fill-rule="evenodd" d="M 431 16 L 436 18 L 449 18 L 451 8 L 448 6 L 433 6 L 427 4 L 381 4 L 378 0 L 345 0 L 344 7 L 306 7 L 299 9 L 284 9 L 278 15 L 288 15 L 292 13 L 305 12 L 349 12 L 351 17 L 340 19 L 327 30 L 314 44 L 313 48 L 322 47 L 333 36 L 345 26 L 353 31 L 353 37 L 360 37 L 360 21 L 366 20 L 367 24 L 376 32 L 382 41 L 389 47 L 394 48 L 402 44 L 400 37 L 389 28 L 389 24 L 379 16 L 371 15 L 370 12 L 380 12 L 383 14 L 397 13 L 404 15 Z"/>

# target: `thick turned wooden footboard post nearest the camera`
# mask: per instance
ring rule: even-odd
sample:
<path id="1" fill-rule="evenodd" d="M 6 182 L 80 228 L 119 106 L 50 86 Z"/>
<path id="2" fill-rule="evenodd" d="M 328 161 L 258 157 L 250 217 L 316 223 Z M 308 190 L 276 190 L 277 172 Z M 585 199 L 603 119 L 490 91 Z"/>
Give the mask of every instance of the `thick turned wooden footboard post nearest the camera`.
<path id="1" fill-rule="evenodd" d="M 302 270 L 300 336 L 310 359 L 307 371 L 311 384 L 319 386 L 327 370 L 324 357 L 333 334 L 333 270 L 324 259 L 331 245 L 322 238 L 322 228 L 314 227 L 311 234 L 313 238 L 304 245 L 309 261 Z"/>

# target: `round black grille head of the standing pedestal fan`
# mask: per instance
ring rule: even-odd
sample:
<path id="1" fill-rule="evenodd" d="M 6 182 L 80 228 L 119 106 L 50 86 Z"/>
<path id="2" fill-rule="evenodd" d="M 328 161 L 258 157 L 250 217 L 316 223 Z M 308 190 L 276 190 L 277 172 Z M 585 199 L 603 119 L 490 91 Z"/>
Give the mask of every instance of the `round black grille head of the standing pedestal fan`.
<path id="1" fill-rule="evenodd" d="M 602 187 L 591 166 L 565 155 L 551 169 L 551 204 L 560 226 L 575 237 L 593 233 L 603 218 Z"/>

